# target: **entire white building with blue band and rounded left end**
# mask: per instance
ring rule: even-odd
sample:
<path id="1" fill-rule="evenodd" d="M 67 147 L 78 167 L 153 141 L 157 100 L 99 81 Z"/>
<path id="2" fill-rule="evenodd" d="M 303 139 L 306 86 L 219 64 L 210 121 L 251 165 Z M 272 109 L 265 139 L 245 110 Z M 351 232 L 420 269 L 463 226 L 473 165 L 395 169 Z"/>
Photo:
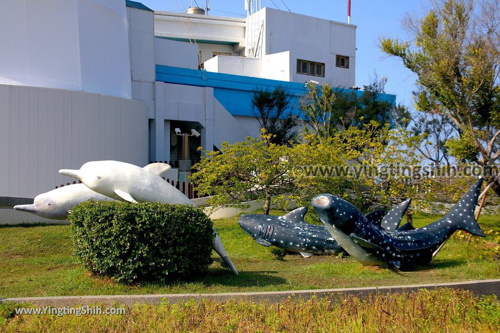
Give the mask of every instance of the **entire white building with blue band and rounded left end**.
<path id="1" fill-rule="evenodd" d="M 186 156 L 175 129 L 201 134 L 187 143 L 196 160 L 198 146 L 258 135 L 253 90 L 283 87 L 293 102 L 304 81 L 353 86 L 354 69 L 354 25 L 270 8 L 233 18 L 4 0 L 0 207 L 72 182 L 57 170 L 89 160 L 177 166 Z"/>

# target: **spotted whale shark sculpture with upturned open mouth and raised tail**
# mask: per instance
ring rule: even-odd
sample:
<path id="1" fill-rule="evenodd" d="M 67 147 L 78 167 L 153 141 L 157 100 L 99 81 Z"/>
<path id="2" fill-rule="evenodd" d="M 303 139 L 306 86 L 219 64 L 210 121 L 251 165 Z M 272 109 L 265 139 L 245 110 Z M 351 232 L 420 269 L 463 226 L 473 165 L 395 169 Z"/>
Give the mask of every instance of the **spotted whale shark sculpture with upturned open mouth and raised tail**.
<path id="1" fill-rule="evenodd" d="M 414 230 L 378 228 L 352 204 L 330 194 L 315 197 L 312 206 L 326 229 L 352 257 L 365 265 L 388 263 L 406 269 L 429 264 L 432 253 L 456 230 L 484 237 L 474 218 L 481 183 L 482 179 L 476 181 L 443 218 Z"/>

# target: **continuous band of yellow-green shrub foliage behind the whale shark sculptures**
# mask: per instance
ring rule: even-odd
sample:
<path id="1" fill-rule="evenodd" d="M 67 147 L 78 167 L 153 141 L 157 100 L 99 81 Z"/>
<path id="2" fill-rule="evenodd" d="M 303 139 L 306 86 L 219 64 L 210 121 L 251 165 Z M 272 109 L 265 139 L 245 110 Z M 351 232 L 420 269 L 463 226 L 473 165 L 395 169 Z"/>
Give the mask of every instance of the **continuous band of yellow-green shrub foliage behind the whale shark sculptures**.
<path id="1" fill-rule="evenodd" d="M 289 200 L 308 205 L 325 192 L 361 208 L 390 207 L 411 197 L 416 188 L 412 173 L 394 174 L 388 166 L 417 164 L 419 140 L 407 130 L 375 121 L 327 137 L 305 135 L 290 146 L 273 144 L 263 134 L 223 143 L 220 152 L 205 152 L 191 179 L 199 193 L 212 195 L 208 202 L 213 209 L 245 209 L 248 201 L 262 200 L 267 214 L 271 197 L 284 208 Z"/>

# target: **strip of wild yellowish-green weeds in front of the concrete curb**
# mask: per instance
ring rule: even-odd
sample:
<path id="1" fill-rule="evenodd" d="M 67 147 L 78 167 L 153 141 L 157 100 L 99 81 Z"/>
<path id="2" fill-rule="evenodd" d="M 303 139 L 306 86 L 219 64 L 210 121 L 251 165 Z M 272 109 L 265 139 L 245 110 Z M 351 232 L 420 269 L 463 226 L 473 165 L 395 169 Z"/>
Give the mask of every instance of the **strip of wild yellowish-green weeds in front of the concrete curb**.
<path id="1" fill-rule="evenodd" d="M 135 304 L 124 315 L 22 315 L 5 332 L 498 332 L 500 304 L 494 296 L 436 289 L 376 293 L 366 297 L 335 293 L 283 302 L 246 300 Z"/>

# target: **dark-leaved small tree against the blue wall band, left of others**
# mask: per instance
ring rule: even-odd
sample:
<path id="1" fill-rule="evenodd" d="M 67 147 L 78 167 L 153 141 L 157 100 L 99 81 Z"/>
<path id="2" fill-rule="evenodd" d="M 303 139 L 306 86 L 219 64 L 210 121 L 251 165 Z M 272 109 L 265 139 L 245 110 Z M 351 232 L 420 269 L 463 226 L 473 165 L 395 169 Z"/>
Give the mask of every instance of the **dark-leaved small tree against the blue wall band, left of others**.
<path id="1" fill-rule="evenodd" d="M 260 128 L 271 135 L 270 142 L 286 145 L 296 139 L 297 132 L 293 130 L 296 126 L 296 116 L 291 109 L 287 111 L 290 98 L 285 89 L 275 88 L 272 92 L 267 88 L 254 90 L 251 100 L 253 115 L 257 119 Z"/>

